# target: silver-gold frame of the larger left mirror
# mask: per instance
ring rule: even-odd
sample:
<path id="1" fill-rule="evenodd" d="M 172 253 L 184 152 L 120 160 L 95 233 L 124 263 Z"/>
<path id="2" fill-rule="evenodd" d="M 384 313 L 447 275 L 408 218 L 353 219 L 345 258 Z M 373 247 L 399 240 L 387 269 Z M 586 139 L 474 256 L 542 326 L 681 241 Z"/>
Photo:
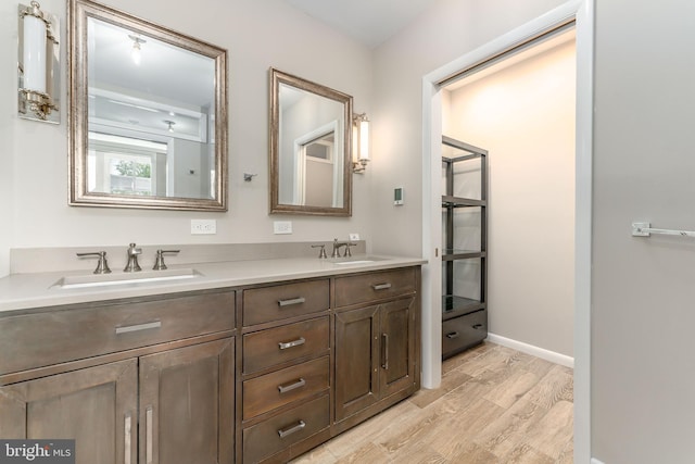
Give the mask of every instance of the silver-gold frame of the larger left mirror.
<path id="1" fill-rule="evenodd" d="M 68 204 L 75 206 L 135 208 L 159 210 L 227 211 L 227 51 L 193 37 L 91 2 L 68 0 Z M 137 196 L 90 192 L 87 189 L 89 152 L 88 118 L 88 20 L 96 18 L 160 40 L 214 61 L 214 184 L 208 198 Z M 170 125 L 169 125 L 170 129 Z M 212 181 L 212 180 L 211 180 Z"/>

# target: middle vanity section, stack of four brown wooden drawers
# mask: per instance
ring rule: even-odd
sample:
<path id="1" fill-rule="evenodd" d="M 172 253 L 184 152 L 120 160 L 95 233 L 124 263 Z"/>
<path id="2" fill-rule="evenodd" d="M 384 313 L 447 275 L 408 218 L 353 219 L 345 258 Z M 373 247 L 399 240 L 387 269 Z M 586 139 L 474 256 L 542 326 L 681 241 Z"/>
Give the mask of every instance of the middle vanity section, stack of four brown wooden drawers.
<path id="1" fill-rule="evenodd" d="M 330 279 L 242 290 L 241 449 L 287 462 L 330 438 Z"/>

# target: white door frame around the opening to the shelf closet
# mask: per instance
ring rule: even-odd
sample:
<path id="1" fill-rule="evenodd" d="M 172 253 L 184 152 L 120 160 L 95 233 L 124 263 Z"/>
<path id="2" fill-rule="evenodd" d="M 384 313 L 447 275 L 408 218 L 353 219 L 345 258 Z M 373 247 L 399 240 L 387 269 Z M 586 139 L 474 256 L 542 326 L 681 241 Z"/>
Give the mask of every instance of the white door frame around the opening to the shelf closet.
<path id="1" fill-rule="evenodd" d="M 441 160 L 439 83 L 556 26 L 576 22 L 574 462 L 591 460 L 591 246 L 594 2 L 571 0 L 422 77 L 422 386 L 441 383 Z"/>

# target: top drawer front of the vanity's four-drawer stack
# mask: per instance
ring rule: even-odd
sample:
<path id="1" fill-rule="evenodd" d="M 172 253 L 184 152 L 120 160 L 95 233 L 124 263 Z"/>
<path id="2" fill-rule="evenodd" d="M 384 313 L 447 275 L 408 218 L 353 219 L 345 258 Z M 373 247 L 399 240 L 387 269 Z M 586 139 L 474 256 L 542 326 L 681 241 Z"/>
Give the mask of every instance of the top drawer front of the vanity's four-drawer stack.
<path id="1" fill-rule="evenodd" d="M 326 311 L 328 296 L 328 279 L 244 290 L 243 326 Z"/>

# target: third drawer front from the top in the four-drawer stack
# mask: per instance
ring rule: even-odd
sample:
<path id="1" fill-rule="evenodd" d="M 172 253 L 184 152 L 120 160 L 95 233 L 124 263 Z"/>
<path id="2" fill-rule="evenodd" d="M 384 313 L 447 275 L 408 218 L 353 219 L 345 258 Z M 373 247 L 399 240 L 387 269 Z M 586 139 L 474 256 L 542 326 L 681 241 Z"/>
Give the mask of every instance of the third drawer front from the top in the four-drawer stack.
<path id="1" fill-rule="evenodd" d="M 328 389 L 328 376 L 324 356 L 244 381 L 244 421 Z"/>

